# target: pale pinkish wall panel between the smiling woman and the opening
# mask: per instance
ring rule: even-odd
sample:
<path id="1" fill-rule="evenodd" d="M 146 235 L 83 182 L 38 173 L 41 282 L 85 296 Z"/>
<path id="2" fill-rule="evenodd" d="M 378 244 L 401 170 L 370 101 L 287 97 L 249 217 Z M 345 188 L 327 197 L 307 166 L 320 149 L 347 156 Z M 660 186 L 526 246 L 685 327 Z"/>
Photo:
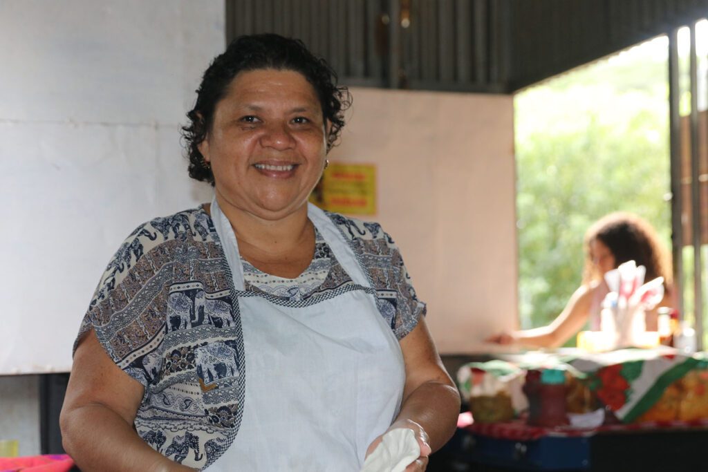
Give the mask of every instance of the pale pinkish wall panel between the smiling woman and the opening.
<path id="1" fill-rule="evenodd" d="M 377 165 L 378 214 L 442 353 L 517 323 L 513 98 L 352 88 L 330 159 Z"/>

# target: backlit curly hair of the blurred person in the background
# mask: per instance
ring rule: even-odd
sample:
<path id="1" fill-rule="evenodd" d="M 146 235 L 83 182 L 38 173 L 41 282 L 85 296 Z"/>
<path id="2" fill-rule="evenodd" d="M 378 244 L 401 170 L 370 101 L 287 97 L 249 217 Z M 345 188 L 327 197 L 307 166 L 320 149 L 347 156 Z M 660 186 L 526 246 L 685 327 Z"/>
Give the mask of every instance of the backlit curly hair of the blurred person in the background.
<path id="1" fill-rule="evenodd" d="M 615 212 L 605 215 L 590 226 L 585 235 L 586 282 L 602 277 L 596 273 L 590 255 L 590 243 L 600 241 L 615 256 L 615 267 L 634 260 L 636 265 L 646 267 L 645 281 L 664 278 L 665 287 L 671 285 L 671 264 L 666 249 L 651 224 L 636 214 Z"/>

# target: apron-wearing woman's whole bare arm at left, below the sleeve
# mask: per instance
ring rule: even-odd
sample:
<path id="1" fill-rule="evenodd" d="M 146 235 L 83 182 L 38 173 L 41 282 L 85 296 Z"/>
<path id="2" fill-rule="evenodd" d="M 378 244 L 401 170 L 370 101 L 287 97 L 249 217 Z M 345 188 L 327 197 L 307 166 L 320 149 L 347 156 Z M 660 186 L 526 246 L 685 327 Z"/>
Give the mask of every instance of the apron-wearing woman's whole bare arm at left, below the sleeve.
<path id="1" fill-rule="evenodd" d="M 59 418 L 64 449 L 81 471 L 178 472 L 133 429 L 144 387 L 123 372 L 89 332 L 74 354 Z"/>

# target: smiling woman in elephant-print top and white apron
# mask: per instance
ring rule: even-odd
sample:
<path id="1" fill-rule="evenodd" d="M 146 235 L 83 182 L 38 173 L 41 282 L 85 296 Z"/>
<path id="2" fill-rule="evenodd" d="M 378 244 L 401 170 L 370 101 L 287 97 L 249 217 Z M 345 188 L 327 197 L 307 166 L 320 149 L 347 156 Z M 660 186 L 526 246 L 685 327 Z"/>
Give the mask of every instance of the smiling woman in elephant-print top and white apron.
<path id="1" fill-rule="evenodd" d="M 452 435 L 392 238 L 307 203 L 348 101 L 297 40 L 212 62 L 184 134 L 214 198 L 133 231 L 76 340 L 61 423 L 82 470 L 358 471 L 402 429 L 422 471 Z"/>

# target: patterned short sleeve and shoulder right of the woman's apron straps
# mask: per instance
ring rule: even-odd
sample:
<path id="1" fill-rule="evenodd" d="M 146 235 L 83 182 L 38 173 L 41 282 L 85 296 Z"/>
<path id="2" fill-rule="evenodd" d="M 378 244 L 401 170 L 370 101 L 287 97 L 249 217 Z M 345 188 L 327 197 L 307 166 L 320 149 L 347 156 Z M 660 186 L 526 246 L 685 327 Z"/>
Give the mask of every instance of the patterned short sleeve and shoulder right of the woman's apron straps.
<path id="1" fill-rule="evenodd" d="M 376 290 L 377 304 L 384 320 L 401 340 L 426 315 L 426 304 L 418 299 L 401 251 L 377 223 L 329 214 L 348 238 Z"/>

